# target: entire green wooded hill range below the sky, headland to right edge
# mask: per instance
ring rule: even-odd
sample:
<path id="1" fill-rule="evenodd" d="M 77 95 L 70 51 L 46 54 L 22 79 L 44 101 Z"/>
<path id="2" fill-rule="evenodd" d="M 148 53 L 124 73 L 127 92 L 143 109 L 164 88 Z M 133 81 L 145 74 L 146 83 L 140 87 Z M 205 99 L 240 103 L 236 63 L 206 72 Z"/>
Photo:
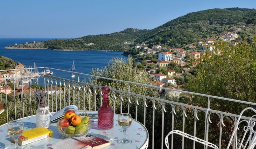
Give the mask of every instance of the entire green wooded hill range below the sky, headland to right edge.
<path id="1" fill-rule="evenodd" d="M 218 36 L 224 31 L 238 33 L 240 37 L 237 40 L 246 39 L 250 42 L 255 34 L 255 24 L 255 9 L 208 9 L 188 13 L 151 30 L 127 28 L 110 34 L 15 44 L 5 49 L 104 50 L 137 55 L 143 52 L 136 48 L 141 44 L 149 48 L 154 45 L 184 48 L 191 43 Z"/>

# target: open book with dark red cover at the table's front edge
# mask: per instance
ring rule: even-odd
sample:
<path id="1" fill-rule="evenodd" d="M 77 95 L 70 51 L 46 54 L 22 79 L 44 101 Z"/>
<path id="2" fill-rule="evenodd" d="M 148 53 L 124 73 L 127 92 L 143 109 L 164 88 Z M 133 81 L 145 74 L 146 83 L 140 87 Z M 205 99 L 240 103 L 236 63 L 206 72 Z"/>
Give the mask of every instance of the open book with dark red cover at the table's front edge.
<path id="1" fill-rule="evenodd" d="M 109 146 L 110 142 L 102 138 L 86 134 L 81 137 L 66 138 L 50 146 L 52 149 L 102 149 Z"/>

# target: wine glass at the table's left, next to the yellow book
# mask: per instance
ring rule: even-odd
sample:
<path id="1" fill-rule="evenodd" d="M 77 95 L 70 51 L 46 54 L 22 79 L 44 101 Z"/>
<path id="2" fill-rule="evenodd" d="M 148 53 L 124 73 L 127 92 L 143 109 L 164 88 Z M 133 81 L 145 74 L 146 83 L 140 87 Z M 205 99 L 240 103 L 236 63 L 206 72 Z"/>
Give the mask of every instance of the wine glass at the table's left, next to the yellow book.
<path id="1" fill-rule="evenodd" d="M 21 136 L 24 129 L 24 124 L 22 121 L 15 120 L 8 122 L 7 133 L 10 137 L 14 138 L 15 149 L 18 149 L 18 138 Z"/>

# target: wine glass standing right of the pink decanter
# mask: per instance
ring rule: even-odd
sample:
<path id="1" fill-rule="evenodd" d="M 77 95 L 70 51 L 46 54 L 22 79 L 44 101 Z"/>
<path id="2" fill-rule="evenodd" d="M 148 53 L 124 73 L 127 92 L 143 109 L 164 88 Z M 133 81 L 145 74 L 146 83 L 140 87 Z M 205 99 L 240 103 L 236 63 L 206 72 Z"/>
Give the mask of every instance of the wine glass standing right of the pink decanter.
<path id="1" fill-rule="evenodd" d="M 123 129 L 123 132 L 124 132 L 124 138 L 118 140 L 117 142 L 120 143 L 120 144 L 127 144 L 127 143 L 131 142 L 130 140 L 128 140 L 126 138 L 126 134 L 125 134 L 126 129 L 129 128 L 129 126 L 131 126 L 131 124 L 132 124 L 131 114 L 129 114 L 129 113 L 119 114 L 118 118 L 117 118 L 117 122 L 118 122 L 118 125 L 121 126 L 121 128 Z"/>

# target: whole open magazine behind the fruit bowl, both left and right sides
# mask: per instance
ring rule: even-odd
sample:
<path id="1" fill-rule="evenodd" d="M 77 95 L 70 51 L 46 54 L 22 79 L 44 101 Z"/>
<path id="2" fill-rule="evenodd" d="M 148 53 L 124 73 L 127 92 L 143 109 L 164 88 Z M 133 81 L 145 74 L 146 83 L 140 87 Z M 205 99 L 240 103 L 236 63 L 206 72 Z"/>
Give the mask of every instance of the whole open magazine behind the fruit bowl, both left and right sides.
<path id="1" fill-rule="evenodd" d="M 82 114 L 83 113 L 83 111 L 78 111 L 77 106 L 69 105 L 69 106 L 66 106 L 65 108 L 59 110 L 58 112 L 55 112 L 53 114 L 53 116 L 50 117 L 50 123 L 57 122 L 57 121 L 61 120 L 62 118 L 64 118 L 64 114 L 67 110 L 72 110 L 76 114 Z M 92 120 L 92 121 L 97 121 L 98 120 L 98 112 L 87 112 L 87 114 L 89 115 L 90 120 Z"/>

